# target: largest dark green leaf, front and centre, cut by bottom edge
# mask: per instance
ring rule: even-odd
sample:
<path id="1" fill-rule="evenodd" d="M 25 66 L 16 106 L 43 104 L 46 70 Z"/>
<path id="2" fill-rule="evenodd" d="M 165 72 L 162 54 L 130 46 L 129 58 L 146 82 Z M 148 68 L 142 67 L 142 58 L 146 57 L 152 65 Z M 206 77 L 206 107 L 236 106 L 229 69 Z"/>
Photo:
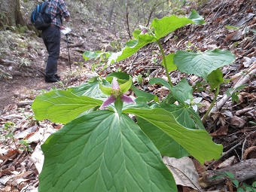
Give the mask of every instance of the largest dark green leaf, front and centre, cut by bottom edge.
<path id="1" fill-rule="evenodd" d="M 39 191 L 177 191 L 159 151 L 126 114 L 79 117 L 53 133 L 42 150 Z"/>

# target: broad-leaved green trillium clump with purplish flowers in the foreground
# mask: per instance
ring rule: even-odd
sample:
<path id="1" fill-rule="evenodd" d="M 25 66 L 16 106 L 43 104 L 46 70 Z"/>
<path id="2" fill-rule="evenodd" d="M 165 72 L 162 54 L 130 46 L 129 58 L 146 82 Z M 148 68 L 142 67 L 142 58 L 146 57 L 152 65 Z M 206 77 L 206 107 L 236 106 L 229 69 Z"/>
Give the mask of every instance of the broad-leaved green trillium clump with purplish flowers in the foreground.
<path id="1" fill-rule="evenodd" d="M 169 73 L 197 75 L 217 97 L 224 82 L 219 68 L 232 63 L 234 56 L 218 49 L 165 55 L 160 43 L 182 26 L 203 23 L 196 11 L 189 17 L 154 19 L 150 27 L 136 30 L 120 52 L 84 53 L 84 59 L 106 56 L 111 65 L 156 42 L 168 81 L 151 78 L 149 83 L 169 89 L 162 100 L 136 88 L 123 72 L 36 97 L 32 109 L 38 120 L 65 124 L 41 146 L 39 191 L 177 191 L 163 156 L 191 156 L 200 163 L 218 160 L 223 147 L 212 142 L 203 126 L 198 113 L 201 99 L 194 97 L 194 87 L 186 79 L 173 85 Z"/>

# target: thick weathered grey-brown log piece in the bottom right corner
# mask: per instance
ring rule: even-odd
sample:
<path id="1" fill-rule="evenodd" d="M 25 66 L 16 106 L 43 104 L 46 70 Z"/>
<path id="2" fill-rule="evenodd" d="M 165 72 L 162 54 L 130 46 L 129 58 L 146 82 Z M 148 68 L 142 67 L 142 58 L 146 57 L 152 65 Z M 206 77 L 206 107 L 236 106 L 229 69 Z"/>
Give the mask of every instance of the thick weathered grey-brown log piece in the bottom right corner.
<path id="1" fill-rule="evenodd" d="M 227 180 L 226 177 L 215 178 L 213 176 L 222 175 L 224 172 L 231 172 L 237 181 L 245 181 L 248 178 L 256 177 L 256 159 L 245 160 L 240 163 L 236 163 L 233 166 L 227 166 L 223 169 L 206 171 L 203 177 L 199 179 L 202 187 L 209 187 L 212 184 L 221 184 Z"/>

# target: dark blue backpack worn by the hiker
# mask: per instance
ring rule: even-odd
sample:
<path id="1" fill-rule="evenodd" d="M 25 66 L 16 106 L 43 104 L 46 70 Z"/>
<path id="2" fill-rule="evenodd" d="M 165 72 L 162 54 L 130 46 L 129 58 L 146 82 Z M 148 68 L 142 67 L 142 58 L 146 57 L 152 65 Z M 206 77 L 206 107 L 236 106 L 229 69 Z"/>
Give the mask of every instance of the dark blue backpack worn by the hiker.
<path id="1" fill-rule="evenodd" d="M 52 22 L 50 18 L 50 11 L 48 8 L 48 2 L 42 2 L 41 4 L 37 5 L 34 11 L 32 11 L 30 20 L 32 24 L 38 30 L 47 29 Z"/>

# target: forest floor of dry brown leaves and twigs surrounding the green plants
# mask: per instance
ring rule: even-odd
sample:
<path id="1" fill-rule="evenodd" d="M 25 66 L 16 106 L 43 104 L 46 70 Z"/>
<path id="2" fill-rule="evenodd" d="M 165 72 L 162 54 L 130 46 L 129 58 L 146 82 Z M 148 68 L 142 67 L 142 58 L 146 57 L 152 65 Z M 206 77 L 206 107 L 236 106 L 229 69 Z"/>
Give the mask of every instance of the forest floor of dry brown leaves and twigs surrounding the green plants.
<path id="1" fill-rule="evenodd" d="M 206 177 L 207 171 L 223 167 L 233 173 L 256 167 L 256 7 L 253 2 L 209 1 L 196 8 L 205 18 L 205 25 L 186 26 L 162 40 L 166 53 L 197 47 L 202 51 L 227 49 L 236 55 L 233 65 L 221 69 L 224 78 L 232 81 L 221 87 L 217 100 L 220 107 L 205 124 L 214 141 L 224 145 L 224 154 L 220 160 L 206 162 L 203 166 L 194 162 L 201 178 L 200 187 L 180 184 L 179 191 L 236 191 L 236 187 L 232 187 L 229 180 L 211 183 L 202 179 Z M 187 12 L 190 9 L 191 7 L 184 8 Z M 238 29 L 231 30 L 225 26 L 238 26 Z M 104 70 L 99 67 L 92 72 L 93 62 L 84 61 L 82 53 L 85 50 L 114 50 L 117 44 L 115 47 L 111 42 L 117 42 L 120 34 L 93 23 L 84 23 L 79 17 L 72 17 L 71 27 L 68 41 L 72 65 L 70 68 L 66 36 L 62 35 L 58 63 L 62 81 L 55 84 L 44 83 L 47 52 L 41 38 L 33 32 L 0 32 L 0 191 L 37 191 L 38 172 L 41 171 L 43 162 L 40 146 L 50 133 L 62 126 L 47 120 L 41 121 L 40 124 L 35 121 L 31 109 L 35 96 L 50 89 L 66 89 L 82 84 L 95 73 L 104 76 L 119 70 L 128 72 L 136 76 L 137 80 L 140 79 L 137 86 L 144 90 L 149 87 L 149 77 L 165 78 L 163 67 L 160 65 L 160 54 L 154 44 L 146 46 L 123 62 Z M 185 75 L 173 72 L 171 77 L 173 84 L 176 84 Z M 190 84 L 198 81 L 194 75 L 186 78 Z M 232 102 L 231 98 L 223 101 L 227 90 L 239 85 L 245 86 L 238 91 L 238 101 Z M 156 93 L 160 99 L 166 96 L 163 87 L 150 87 L 148 90 Z M 209 91 L 201 93 L 201 115 L 209 108 L 213 95 Z M 24 140 L 30 143 L 19 142 Z M 246 160 L 249 164 L 243 163 Z M 239 169 L 236 165 L 240 166 Z M 250 184 L 253 180 L 256 179 L 244 177 L 241 181 Z"/>

